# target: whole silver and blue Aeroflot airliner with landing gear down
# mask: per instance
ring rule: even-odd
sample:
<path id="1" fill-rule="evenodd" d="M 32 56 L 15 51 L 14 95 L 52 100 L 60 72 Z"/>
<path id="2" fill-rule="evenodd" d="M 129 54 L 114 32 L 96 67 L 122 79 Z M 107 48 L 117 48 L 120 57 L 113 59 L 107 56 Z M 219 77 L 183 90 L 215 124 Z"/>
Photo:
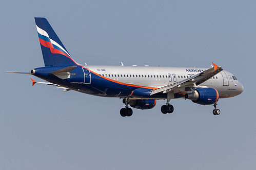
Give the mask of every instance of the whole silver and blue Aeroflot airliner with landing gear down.
<path id="1" fill-rule="evenodd" d="M 86 94 L 121 98 L 125 107 L 121 116 L 131 116 L 132 109 L 152 109 L 156 100 L 166 100 L 162 113 L 172 113 L 171 99 L 190 99 L 200 105 L 213 105 L 214 115 L 219 99 L 230 98 L 243 92 L 243 85 L 228 71 L 212 63 L 211 68 L 149 67 L 149 66 L 89 66 L 76 63 L 53 31 L 46 18 L 35 18 L 45 67 L 30 73 L 55 85 L 63 91 L 74 90 Z M 11 72 L 11 71 L 7 71 Z"/>

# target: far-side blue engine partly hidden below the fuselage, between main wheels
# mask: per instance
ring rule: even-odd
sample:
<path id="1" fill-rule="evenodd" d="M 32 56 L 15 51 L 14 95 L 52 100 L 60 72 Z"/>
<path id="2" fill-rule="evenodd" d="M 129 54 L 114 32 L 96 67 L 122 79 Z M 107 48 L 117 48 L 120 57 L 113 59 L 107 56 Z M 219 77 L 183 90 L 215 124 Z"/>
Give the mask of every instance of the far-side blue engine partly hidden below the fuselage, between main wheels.
<path id="1" fill-rule="evenodd" d="M 156 100 L 128 100 L 128 104 L 136 109 L 152 109 Z"/>

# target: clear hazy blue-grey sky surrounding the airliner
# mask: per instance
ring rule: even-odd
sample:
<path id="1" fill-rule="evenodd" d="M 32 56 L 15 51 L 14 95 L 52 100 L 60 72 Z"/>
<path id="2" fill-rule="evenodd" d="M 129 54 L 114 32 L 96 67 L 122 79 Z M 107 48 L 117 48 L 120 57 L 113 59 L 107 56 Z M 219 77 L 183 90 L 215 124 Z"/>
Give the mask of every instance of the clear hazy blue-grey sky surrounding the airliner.
<path id="1" fill-rule="evenodd" d="M 0 169 L 252 169 L 256 158 L 255 1 L 1 1 Z M 122 100 L 36 84 L 34 17 L 88 65 L 210 67 L 244 92 L 213 106 L 172 100 L 121 117 Z M 38 80 L 37 78 L 34 78 Z"/>

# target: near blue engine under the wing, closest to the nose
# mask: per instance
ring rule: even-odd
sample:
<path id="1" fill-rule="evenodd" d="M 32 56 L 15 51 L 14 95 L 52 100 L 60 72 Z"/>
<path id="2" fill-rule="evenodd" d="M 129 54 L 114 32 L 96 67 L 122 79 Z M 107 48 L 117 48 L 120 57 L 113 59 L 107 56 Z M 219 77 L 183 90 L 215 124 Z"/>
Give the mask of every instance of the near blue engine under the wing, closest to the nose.
<path id="1" fill-rule="evenodd" d="M 214 88 L 196 88 L 185 94 L 185 98 L 200 105 L 212 105 L 218 101 L 219 93 Z"/>

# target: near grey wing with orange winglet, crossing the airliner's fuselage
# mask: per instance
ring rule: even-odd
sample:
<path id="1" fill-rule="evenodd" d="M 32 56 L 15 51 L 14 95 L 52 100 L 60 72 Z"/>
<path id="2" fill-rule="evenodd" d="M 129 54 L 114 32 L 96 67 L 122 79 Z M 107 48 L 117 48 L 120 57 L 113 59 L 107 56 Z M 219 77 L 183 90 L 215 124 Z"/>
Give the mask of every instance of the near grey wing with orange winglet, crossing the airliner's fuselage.
<path id="1" fill-rule="evenodd" d="M 209 68 L 207 70 L 205 70 L 204 72 L 200 72 L 199 74 L 196 74 L 194 76 L 191 76 L 188 79 L 184 79 L 180 82 L 176 82 L 161 88 L 157 88 L 151 91 L 150 95 L 159 93 L 159 92 L 163 92 L 163 93 L 167 93 L 170 92 L 172 90 L 174 90 L 175 88 L 179 88 L 179 87 L 183 87 L 183 86 L 194 86 L 194 85 L 199 85 L 207 80 L 209 80 L 210 78 L 212 78 L 213 76 L 215 76 L 216 74 L 218 74 L 219 72 L 221 72 L 223 69 L 212 63 L 213 67 Z"/>

